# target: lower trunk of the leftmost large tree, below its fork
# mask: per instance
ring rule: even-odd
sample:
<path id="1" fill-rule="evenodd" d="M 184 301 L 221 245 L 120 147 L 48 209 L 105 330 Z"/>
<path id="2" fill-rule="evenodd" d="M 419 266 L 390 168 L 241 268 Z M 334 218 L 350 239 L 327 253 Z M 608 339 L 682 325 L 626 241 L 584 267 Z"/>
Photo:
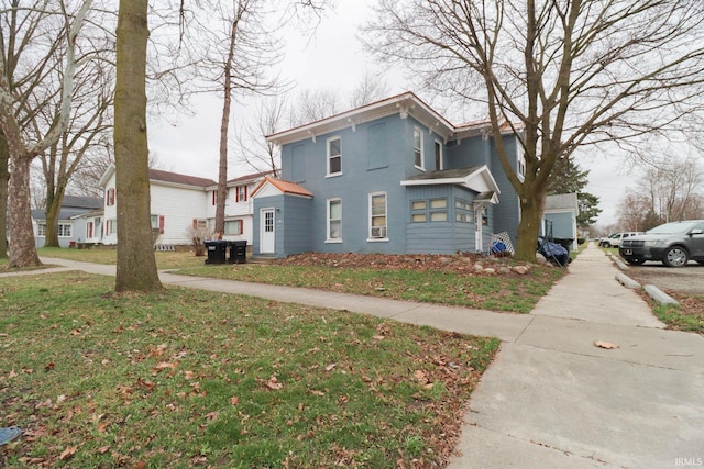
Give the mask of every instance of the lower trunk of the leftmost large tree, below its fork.
<path id="1" fill-rule="evenodd" d="M 15 155 L 10 160 L 10 264 L 9 267 L 41 266 L 32 230 L 30 164 L 32 158 Z"/>

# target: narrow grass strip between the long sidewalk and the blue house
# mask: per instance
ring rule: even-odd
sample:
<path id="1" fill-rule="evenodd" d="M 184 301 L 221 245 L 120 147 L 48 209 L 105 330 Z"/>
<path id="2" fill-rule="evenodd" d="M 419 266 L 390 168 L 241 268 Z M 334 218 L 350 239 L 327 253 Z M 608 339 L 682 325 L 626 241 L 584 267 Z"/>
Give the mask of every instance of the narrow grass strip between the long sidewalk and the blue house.
<path id="1" fill-rule="evenodd" d="M 566 271 L 534 268 L 525 276 L 468 275 L 411 269 L 248 264 L 199 266 L 183 269 L 179 273 L 528 313 Z"/>

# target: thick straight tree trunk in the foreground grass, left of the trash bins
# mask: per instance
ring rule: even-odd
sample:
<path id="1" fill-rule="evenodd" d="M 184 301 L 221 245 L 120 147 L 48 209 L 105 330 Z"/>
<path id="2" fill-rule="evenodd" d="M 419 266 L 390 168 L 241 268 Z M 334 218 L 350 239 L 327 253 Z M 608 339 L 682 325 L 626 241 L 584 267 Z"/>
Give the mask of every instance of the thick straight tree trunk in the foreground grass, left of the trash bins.
<path id="1" fill-rule="evenodd" d="M 116 291 L 162 289 L 150 213 L 146 138 L 147 0 L 120 0 L 114 97 L 118 209 Z"/>

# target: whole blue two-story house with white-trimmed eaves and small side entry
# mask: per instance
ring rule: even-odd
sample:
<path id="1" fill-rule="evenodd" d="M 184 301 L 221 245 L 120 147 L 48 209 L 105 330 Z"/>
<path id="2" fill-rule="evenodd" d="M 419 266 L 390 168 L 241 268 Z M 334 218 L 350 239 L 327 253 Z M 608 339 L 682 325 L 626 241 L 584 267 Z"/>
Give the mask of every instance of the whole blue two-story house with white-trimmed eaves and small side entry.
<path id="1" fill-rule="evenodd" d="M 503 137 L 514 170 L 517 137 Z M 518 198 L 488 123 L 454 126 L 406 92 L 267 137 L 282 179 L 253 192 L 253 254 L 454 254 L 512 239 Z"/>

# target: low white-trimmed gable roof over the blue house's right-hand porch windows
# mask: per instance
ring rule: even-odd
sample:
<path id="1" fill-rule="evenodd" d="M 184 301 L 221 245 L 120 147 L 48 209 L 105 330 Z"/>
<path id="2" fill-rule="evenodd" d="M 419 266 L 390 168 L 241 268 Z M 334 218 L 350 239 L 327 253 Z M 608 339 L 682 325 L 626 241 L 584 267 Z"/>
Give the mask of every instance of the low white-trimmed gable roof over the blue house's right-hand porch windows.
<path id="1" fill-rule="evenodd" d="M 454 185 L 471 189 L 483 196 L 482 200 L 498 203 L 501 193 L 496 180 L 486 165 L 468 168 L 442 169 L 425 172 L 400 181 L 402 186 Z M 488 198 L 486 198 L 488 194 Z"/>

